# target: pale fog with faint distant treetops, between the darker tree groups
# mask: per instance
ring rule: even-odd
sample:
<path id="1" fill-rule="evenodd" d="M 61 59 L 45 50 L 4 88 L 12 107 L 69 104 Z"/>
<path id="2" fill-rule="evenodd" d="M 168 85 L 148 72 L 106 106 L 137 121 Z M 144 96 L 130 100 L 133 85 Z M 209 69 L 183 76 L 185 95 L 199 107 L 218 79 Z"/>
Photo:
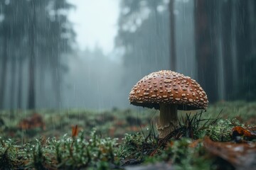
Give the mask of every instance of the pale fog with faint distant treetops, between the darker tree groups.
<path id="1" fill-rule="evenodd" d="M 128 97 L 122 88 L 122 63 L 110 60 L 100 47 L 79 52 L 68 62 L 64 108 L 125 108 Z M 127 102 L 127 103 L 125 103 Z"/>

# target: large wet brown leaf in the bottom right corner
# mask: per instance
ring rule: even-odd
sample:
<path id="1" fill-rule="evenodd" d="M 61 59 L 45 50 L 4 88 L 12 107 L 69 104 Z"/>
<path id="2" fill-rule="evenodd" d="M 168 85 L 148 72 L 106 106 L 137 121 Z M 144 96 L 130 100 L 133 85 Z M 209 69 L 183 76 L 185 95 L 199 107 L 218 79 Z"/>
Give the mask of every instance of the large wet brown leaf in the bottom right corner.
<path id="1" fill-rule="evenodd" d="M 255 169 L 256 143 L 213 142 L 205 137 L 203 146 L 212 154 L 230 162 L 236 169 Z"/>

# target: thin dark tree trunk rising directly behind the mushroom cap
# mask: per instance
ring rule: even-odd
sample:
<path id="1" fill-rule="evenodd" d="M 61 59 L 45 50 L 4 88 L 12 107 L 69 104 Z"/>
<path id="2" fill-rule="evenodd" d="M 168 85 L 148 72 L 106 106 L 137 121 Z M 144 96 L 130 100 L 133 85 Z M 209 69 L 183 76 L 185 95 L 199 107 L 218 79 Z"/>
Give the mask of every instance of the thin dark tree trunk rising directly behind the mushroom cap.
<path id="1" fill-rule="evenodd" d="M 170 15 L 170 55 L 171 55 L 171 70 L 176 71 L 176 45 L 175 45 L 175 16 L 174 16 L 174 2 L 169 2 Z"/>

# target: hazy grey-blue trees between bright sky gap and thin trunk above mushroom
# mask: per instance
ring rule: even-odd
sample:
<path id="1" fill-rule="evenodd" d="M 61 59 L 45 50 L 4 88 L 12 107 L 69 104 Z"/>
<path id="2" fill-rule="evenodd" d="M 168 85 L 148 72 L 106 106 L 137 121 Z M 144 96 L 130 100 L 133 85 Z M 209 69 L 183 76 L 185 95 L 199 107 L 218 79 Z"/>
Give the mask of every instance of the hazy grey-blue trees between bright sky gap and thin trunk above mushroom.
<path id="1" fill-rule="evenodd" d="M 168 2 L 123 0 L 120 3 L 116 46 L 124 52 L 122 86 L 129 94 L 142 77 L 169 69 Z"/>

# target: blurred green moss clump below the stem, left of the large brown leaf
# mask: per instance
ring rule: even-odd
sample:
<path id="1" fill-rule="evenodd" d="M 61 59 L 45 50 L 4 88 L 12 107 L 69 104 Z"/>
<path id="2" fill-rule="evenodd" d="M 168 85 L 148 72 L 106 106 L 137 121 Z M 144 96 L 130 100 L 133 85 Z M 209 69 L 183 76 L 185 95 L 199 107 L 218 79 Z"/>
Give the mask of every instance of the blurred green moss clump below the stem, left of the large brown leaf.
<path id="1" fill-rule="evenodd" d="M 201 141 L 196 141 L 193 146 L 191 138 L 171 140 L 164 149 L 145 158 L 145 163 L 167 162 L 173 164 L 174 169 L 210 169 L 212 161 L 202 157 L 206 154 Z"/>

